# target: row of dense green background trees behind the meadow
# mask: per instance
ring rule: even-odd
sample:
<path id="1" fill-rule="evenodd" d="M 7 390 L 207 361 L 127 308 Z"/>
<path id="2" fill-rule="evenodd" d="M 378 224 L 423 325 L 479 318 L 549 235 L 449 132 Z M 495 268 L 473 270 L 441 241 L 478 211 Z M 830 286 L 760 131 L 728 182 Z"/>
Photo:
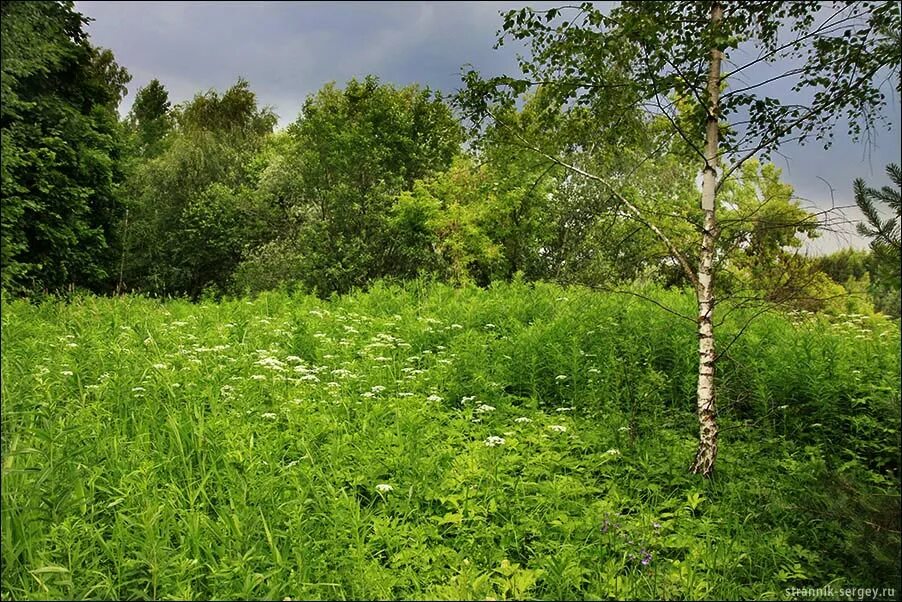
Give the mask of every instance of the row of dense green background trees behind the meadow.
<path id="1" fill-rule="evenodd" d="M 697 166 L 686 141 L 669 135 L 669 116 L 625 102 L 567 107 L 546 87 L 519 107 L 495 105 L 474 135 L 456 110 L 464 103 L 371 76 L 325 86 L 281 131 L 243 79 L 179 105 L 155 79 L 119 119 L 130 76 L 90 43 L 86 22 L 71 3 L 3 5 L 7 290 L 328 295 L 378 278 L 486 285 L 516 274 L 691 284 L 673 251 L 693 254 Z M 691 112 L 675 113 L 687 129 Z M 670 248 L 612 209 L 609 191 L 543 155 L 615 176 L 644 158 L 625 187 L 656 208 Z M 795 251 L 823 220 L 773 164 L 744 165 L 721 199 L 726 290 L 756 282 L 773 299 L 819 310 L 839 307 L 830 300 L 844 286 L 898 314 L 885 242 L 894 226 L 883 224 L 873 255 L 808 259 Z M 881 219 L 873 204 L 869 219 L 865 228 Z"/>

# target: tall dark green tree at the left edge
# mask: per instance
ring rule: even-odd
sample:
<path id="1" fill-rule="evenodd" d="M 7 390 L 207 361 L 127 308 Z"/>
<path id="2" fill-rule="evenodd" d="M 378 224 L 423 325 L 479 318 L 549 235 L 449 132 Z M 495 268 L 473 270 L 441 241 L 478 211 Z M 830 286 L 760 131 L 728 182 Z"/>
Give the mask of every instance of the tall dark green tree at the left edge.
<path id="1" fill-rule="evenodd" d="M 130 76 L 71 2 L 2 6 L 2 285 L 109 285 L 123 205 L 116 106 Z"/>

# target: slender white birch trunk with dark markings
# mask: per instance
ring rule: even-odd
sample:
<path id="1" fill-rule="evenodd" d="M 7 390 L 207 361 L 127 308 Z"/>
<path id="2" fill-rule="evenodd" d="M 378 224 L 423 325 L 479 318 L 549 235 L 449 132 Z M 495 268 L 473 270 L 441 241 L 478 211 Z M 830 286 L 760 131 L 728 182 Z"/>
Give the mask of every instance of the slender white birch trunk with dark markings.
<path id="1" fill-rule="evenodd" d="M 723 19 L 723 7 L 711 8 L 711 22 L 716 25 Z M 715 190 L 717 186 L 717 151 L 720 102 L 720 64 L 723 53 L 711 49 L 708 72 L 708 123 L 705 136 L 705 170 L 702 180 L 702 211 L 704 230 L 698 263 L 698 452 L 691 471 L 710 476 L 717 459 L 717 411 L 714 389 L 714 250 L 717 241 L 717 216 Z"/>

